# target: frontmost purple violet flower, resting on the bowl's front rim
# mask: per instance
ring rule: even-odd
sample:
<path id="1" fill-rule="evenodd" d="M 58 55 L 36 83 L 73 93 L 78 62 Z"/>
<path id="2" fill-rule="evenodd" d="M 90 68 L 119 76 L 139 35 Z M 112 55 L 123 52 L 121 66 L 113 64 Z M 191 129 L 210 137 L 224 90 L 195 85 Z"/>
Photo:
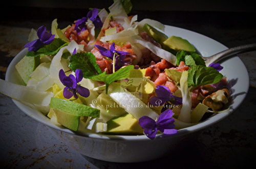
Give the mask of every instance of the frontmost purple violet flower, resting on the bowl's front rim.
<path id="1" fill-rule="evenodd" d="M 171 118 L 172 116 L 173 111 L 167 109 L 159 115 L 157 121 L 148 116 L 140 117 L 139 125 L 144 129 L 144 134 L 152 140 L 155 139 L 158 130 L 164 134 L 176 134 L 175 120 Z"/>

